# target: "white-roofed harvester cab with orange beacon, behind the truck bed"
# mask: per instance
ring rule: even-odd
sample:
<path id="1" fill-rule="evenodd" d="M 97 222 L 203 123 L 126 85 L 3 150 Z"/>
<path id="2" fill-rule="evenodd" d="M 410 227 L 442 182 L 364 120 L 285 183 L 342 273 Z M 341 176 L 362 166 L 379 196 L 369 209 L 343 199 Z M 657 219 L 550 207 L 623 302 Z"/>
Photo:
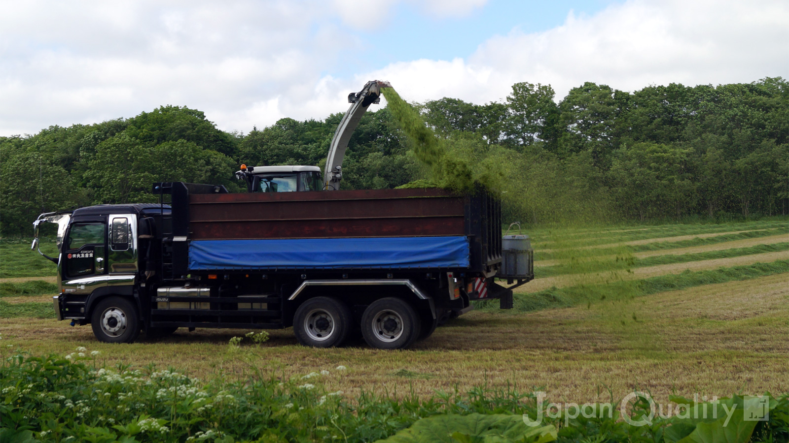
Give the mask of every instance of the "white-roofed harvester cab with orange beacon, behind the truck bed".
<path id="1" fill-rule="evenodd" d="M 247 184 L 247 192 L 320 191 L 323 179 L 317 166 L 241 165 L 236 177 Z"/>

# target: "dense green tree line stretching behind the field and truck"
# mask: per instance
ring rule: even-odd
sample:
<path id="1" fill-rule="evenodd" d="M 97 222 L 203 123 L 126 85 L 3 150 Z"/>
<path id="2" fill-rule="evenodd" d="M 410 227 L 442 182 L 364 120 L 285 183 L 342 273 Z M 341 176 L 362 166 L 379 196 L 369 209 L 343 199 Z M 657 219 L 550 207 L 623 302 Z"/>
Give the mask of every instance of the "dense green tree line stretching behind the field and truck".
<path id="1" fill-rule="evenodd" d="M 789 84 L 765 78 L 717 87 L 518 83 L 503 102 L 416 103 L 428 127 L 470 164 L 487 165 L 518 199 L 509 218 L 561 220 L 605 208 L 618 218 L 753 217 L 789 210 Z M 248 165 L 323 166 L 342 114 L 283 118 L 247 134 L 204 113 L 161 106 L 94 125 L 0 137 L 0 233 L 27 235 L 39 213 L 98 203 L 156 201 L 154 181 L 224 184 Z M 394 188 L 430 179 L 386 107 L 350 140 L 343 188 Z"/>

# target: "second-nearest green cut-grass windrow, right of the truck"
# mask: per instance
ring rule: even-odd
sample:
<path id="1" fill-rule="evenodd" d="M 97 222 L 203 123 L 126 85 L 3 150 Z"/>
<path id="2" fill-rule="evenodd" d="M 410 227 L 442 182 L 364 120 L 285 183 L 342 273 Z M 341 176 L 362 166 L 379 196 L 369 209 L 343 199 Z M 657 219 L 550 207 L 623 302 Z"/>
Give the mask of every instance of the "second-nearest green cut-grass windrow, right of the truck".
<path id="1" fill-rule="evenodd" d="M 695 262 L 698 260 L 728 259 L 731 257 L 741 257 L 743 255 L 761 254 L 765 252 L 786 251 L 789 249 L 789 242 L 776 244 L 760 244 L 750 248 L 733 248 L 722 251 L 705 251 L 695 254 L 682 255 L 653 255 L 644 259 L 616 259 L 590 261 L 585 266 L 566 266 L 563 264 L 555 266 L 542 266 L 538 274 L 539 277 L 553 277 L 555 275 L 574 274 L 578 272 L 599 272 L 607 270 L 624 270 L 643 266 L 668 265 L 671 263 Z"/>

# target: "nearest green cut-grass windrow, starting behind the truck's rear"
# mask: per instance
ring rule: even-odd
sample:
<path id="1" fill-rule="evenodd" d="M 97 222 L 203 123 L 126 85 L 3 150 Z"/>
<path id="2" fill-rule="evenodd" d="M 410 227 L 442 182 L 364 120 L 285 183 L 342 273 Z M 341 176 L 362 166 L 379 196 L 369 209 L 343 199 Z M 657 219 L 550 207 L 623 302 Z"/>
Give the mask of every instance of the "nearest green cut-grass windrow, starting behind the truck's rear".
<path id="1" fill-rule="evenodd" d="M 749 280 L 787 272 L 789 272 L 789 260 L 776 260 L 769 263 L 753 263 L 748 266 L 722 267 L 716 270 L 685 271 L 682 274 L 660 275 L 642 280 L 616 281 L 604 285 L 575 285 L 540 292 L 516 292 L 513 311 L 538 311 L 553 307 L 573 307 L 581 303 L 595 303 L 600 300 L 631 299 L 656 292 L 727 281 Z M 478 302 L 477 307 L 483 311 L 495 311 L 499 306 L 498 303 L 486 300 Z"/>

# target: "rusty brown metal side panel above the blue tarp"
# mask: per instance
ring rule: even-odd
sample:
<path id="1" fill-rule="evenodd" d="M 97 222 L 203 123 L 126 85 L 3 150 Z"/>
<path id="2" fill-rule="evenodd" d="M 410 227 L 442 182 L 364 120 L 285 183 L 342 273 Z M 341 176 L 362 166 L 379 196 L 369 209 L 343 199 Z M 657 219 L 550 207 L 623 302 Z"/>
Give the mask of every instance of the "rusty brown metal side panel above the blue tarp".
<path id="1" fill-rule="evenodd" d="M 464 197 L 439 188 L 189 195 L 191 240 L 462 236 Z"/>

